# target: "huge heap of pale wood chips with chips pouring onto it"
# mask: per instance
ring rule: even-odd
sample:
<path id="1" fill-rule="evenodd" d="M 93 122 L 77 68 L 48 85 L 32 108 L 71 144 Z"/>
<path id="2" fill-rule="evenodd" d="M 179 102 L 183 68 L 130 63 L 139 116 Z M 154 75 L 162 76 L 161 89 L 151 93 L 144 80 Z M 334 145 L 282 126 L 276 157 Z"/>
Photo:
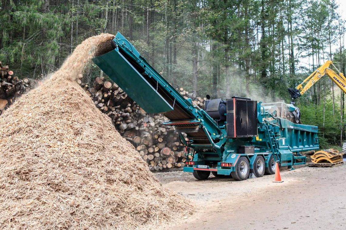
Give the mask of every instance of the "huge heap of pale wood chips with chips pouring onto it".
<path id="1" fill-rule="evenodd" d="M 142 229 L 192 213 L 75 82 L 112 38 L 86 39 L 0 116 L 2 229 Z"/>

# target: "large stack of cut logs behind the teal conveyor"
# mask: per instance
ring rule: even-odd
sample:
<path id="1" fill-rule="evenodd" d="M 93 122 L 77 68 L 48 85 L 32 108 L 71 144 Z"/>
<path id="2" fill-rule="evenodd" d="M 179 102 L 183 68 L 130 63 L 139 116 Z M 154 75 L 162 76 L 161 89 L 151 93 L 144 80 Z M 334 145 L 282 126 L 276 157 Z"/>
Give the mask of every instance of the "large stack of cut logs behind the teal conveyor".
<path id="1" fill-rule="evenodd" d="M 180 142 L 174 127 L 164 126 L 162 114 L 147 114 L 131 100 L 117 84 L 95 78 L 93 87 L 80 83 L 94 104 L 113 121 L 118 132 L 130 141 L 147 162 L 152 171 L 184 167 L 185 146 Z M 178 89 L 180 94 L 201 106 L 204 99 L 195 94 Z"/>

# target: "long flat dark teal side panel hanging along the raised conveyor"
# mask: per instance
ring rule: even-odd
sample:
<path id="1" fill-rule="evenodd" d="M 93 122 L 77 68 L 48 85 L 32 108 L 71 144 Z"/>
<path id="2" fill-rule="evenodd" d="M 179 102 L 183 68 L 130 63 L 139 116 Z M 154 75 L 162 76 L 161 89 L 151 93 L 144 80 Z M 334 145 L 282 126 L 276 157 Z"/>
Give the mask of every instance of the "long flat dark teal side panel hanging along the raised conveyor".
<path id="1" fill-rule="evenodd" d="M 93 61 L 147 113 L 161 113 L 173 110 L 173 107 L 119 51 L 112 50 L 99 57 L 95 57 Z"/>

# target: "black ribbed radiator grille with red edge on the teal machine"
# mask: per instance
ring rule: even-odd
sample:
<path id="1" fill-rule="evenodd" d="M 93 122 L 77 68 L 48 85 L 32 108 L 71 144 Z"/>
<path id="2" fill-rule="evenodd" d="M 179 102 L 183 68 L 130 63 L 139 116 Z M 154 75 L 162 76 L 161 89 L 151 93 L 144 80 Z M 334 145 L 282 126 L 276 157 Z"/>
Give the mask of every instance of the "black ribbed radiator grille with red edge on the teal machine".
<path id="1" fill-rule="evenodd" d="M 227 100 L 227 136 L 257 136 L 257 102 L 232 98 Z"/>

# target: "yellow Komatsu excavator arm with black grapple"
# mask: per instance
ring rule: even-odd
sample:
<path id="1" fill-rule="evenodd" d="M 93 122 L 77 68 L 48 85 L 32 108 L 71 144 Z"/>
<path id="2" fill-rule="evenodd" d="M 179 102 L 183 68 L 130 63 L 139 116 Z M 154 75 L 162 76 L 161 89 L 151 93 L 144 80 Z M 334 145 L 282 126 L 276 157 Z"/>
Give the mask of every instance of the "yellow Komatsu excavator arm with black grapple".
<path id="1" fill-rule="evenodd" d="M 339 73 L 336 73 L 334 70 L 329 67 L 333 66 Z M 296 88 L 288 88 L 288 91 L 291 94 L 292 101 L 295 98 L 302 96 L 306 91 L 308 91 L 317 81 L 322 77 L 327 75 L 333 80 L 337 86 L 346 93 L 346 78 L 343 73 L 341 73 L 331 61 L 326 61 L 322 66 L 310 74 L 302 83 L 300 83 Z"/>

